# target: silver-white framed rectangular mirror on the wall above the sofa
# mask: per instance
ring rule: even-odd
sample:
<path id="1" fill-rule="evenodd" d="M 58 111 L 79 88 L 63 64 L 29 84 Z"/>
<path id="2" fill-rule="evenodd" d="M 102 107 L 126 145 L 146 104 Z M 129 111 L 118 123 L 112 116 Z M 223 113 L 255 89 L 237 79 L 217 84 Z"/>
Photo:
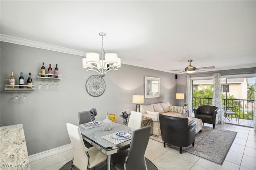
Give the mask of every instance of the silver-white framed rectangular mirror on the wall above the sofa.
<path id="1" fill-rule="evenodd" d="M 159 98 L 160 96 L 160 78 L 145 76 L 145 99 Z"/>

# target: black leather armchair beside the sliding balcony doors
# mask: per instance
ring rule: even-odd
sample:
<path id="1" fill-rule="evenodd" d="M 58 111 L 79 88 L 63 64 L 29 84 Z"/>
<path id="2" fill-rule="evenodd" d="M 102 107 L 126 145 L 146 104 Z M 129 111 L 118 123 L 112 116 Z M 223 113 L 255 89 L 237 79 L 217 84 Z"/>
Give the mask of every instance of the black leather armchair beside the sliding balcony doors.
<path id="1" fill-rule="evenodd" d="M 195 117 L 201 119 L 204 123 L 210 123 L 215 128 L 216 114 L 220 109 L 212 105 L 202 105 L 194 108 Z"/>

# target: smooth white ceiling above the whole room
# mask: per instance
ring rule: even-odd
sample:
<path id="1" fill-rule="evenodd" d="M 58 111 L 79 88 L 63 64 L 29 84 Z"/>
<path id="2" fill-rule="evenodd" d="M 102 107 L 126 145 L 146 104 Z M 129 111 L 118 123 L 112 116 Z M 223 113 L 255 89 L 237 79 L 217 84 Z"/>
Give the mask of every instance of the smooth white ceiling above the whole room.
<path id="1" fill-rule="evenodd" d="M 213 70 L 256 66 L 256 1 L 0 3 L 2 37 L 99 53 L 105 32 L 106 53 L 123 64 L 166 72 L 188 59 Z"/>

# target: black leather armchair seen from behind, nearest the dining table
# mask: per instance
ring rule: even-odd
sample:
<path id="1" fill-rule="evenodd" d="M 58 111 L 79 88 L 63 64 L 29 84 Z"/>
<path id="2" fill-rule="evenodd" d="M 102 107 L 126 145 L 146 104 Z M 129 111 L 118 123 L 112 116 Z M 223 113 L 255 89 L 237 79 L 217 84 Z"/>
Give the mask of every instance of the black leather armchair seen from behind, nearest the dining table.
<path id="1" fill-rule="evenodd" d="M 180 154 L 182 147 L 188 147 L 191 144 L 194 147 L 196 121 L 192 120 L 188 123 L 187 118 L 172 117 L 161 113 L 159 121 L 164 147 L 165 143 L 180 147 Z"/>

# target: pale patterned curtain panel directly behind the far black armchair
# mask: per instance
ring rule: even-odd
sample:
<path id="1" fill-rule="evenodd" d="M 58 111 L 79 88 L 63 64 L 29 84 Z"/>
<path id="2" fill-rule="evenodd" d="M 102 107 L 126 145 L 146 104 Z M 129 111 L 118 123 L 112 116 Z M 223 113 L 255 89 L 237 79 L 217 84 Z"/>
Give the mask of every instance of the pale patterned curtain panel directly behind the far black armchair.
<path id="1" fill-rule="evenodd" d="M 220 80 L 220 73 L 213 74 L 213 98 L 212 98 L 212 105 L 218 107 L 220 109 L 219 113 L 217 114 L 216 121 L 223 124 L 224 123 L 224 111 L 222 106 L 222 97 L 221 97 L 221 80 Z"/>

